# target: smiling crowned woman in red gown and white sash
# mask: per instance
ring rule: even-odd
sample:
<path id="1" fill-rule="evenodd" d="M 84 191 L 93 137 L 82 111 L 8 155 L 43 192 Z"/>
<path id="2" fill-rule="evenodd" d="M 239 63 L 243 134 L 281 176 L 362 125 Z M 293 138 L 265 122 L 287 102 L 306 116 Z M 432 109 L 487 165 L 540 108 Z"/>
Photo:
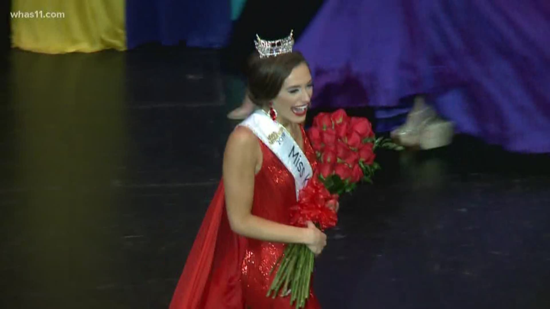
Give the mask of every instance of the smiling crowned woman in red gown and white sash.
<path id="1" fill-rule="evenodd" d="M 326 245 L 326 235 L 315 225 L 289 225 L 289 207 L 317 165 L 301 125 L 312 95 L 311 75 L 304 57 L 292 52 L 293 42 L 292 34 L 256 42 L 248 83 L 259 109 L 229 136 L 223 180 L 185 264 L 172 309 L 290 308 L 289 297 L 266 297 L 274 275 L 269 273 L 284 244 L 306 244 L 316 254 Z M 289 152 L 299 154 L 289 159 Z M 320 308 L 312 292 L 306 308 Z"/>

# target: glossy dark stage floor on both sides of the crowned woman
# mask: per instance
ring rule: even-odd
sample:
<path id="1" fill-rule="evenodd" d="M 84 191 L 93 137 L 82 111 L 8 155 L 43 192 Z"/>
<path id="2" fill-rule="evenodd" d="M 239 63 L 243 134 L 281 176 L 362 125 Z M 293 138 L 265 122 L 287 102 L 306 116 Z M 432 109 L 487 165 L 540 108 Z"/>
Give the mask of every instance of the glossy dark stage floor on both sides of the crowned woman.
<path id="1" fill-rule="evenodd" d="M 167 307 L 235 125 L 239 82 L 217 59 L 9 53 L 1 308 Z M 323 308 L 550 307 L 547 156 L 467 136 L 379 156 L 376 184 L 344 200 L 318 260 Z"/>

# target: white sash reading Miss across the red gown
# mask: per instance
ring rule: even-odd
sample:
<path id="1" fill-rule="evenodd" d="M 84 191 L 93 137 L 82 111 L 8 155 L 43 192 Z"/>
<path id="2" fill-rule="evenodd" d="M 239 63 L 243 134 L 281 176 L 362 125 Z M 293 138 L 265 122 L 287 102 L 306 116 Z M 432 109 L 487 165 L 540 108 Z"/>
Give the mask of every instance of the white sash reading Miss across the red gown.
<path id="1" fill-rule="evenodd" d="M 296 144 L 292 136 L 290 136 L 287 129 L 281 124 L 274 122 L 261 109 L 251 114 L 240 125 L 252 130 L 294 176 L 296 200 L 298 200 L 298 192 L 307 184 L 307 180 L 313 175 L 313 170 L 304 152 Z"/>

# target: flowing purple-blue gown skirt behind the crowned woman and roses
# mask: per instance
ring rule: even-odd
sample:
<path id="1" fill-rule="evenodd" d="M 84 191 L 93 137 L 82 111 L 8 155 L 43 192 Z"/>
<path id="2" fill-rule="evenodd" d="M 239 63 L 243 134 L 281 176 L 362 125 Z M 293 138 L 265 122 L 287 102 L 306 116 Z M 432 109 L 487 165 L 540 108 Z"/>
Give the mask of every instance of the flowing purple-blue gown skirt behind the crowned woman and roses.
<path id="1" fill-rule="evenodd" d="M 456 129 L 550 152 L 550 2 L 328 0 L 296 49 L 316 106 L 400 108 L 427 93 Z"/>

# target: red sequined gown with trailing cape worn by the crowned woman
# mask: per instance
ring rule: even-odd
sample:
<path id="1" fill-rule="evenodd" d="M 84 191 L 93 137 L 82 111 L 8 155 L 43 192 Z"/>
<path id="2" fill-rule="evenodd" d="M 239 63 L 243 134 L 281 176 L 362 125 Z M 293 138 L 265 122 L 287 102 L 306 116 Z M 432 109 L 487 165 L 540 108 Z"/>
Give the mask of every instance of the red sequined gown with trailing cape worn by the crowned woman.
<path id="1" fill-rule="evenodd" d="M 315 152 L 302 128 L 304 153 L 316 169 Z M 296 202 L 292 174 L 260 141 L 262 168 L 256 174 L 252 214 L 289 224 L 289 207 Z M 202 222 L 170 309 L 285 309 L 289 297 L 266 297 L 274 274 L 269 272 L 282 255 L 284 244 L 239 236 L 227 219 L 224 186 L 218 190 Z M 305 308 L 321 308 L 310 291 Z"/>

